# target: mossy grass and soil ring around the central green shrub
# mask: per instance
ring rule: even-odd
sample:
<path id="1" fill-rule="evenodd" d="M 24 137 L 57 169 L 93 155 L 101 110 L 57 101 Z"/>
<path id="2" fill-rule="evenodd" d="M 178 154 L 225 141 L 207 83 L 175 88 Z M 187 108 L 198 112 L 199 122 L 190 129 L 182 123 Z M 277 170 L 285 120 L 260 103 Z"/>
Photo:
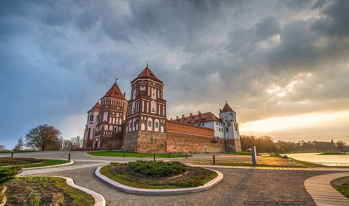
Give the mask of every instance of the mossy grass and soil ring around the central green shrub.
<path id="1" fill-rule="evenodd" d="M 180 177 L 158 180 L 133 174 L 129 169 L 129 164 L 127 163 L 111 163 L 110 165 L 102 167 L 99 172 L 109 179 L 119 182 L 120 184 L 144 189 L 198 187 L 217 177 L 217 173 L 205 168 L 187 167 L 187 171 L 187 174 Z"/>

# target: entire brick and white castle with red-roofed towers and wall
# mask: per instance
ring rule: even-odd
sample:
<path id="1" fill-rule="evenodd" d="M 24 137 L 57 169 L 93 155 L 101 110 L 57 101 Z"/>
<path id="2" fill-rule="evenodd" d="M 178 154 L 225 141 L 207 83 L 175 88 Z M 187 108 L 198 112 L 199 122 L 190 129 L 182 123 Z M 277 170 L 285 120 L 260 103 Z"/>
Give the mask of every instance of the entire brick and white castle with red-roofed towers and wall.
<path id="1" fill-rule="evenodd" d="M 241 152 L 236 112 L 225 103 L 219 118 L 211 112 L 169 120 L 163 82 L 147 67 L 131 81 L 127 101 L 116 84 L 90 109 L 83 148 L 138 153 Z M 76 148 L 78 149 L 78 148 Z"/>

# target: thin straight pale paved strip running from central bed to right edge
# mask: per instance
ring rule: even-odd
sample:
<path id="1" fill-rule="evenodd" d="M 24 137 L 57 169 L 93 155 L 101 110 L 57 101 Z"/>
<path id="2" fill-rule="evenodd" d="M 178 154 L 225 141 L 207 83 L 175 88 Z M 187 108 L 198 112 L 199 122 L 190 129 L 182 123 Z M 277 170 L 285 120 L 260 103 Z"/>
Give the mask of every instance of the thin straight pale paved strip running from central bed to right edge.
<path id="1" fill-rule="evenodd" d="M 184 163 L 193 167 L 215 167 L 215 168 L 233 168 L 233 169 L 269 169 L 269 170 L 291 170 L 291 171 L 343 171 L 349 172 L 349 168 L 335 168 L 335 167 L 326 167 L 326 168 L 318 168 L 318 167 L 246 167 L 246 166 L 220 166 L 220 165 L 194 165 L 191 163 Z"/>

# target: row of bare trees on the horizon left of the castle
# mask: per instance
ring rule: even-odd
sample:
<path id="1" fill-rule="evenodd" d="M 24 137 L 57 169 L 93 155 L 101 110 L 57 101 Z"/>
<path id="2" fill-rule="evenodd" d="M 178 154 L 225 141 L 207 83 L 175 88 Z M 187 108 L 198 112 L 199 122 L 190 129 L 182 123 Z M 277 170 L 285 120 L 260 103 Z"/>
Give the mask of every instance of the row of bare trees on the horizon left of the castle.
<path id="1" fill-rule="evenodd" d="M 81 136 L 75 136 L 69 140 L 62 137 L 62 132 L 47 124 L 38 125 L 31 128 L 28 133 L 25 134 L 25 140 L 21 136 L 17 140 L 17 144 L 14 146 L 14 151 L 23 150 L 24 147 L 30 150 L 67 150 L 71 147 L 81 147 L 83 138 Z M 3 145 L 2 145 L 3 146 Z M 5 146 L 3 146 L 5 149 Z"/>

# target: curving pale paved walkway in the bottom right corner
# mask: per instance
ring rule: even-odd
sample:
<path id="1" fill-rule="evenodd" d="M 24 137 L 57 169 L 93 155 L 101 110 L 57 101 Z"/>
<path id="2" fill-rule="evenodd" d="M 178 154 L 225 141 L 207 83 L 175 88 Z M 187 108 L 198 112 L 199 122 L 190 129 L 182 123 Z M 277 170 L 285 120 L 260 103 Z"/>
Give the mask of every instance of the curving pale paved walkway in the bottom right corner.
<path id="1" fill-rule="evenodd" d="M 331 185 L 332 180 L 346 176 L 349 176 L 349 172 L 313 176 L 304 181 L 304 187 L 316 205 L 349 205 L 349 199 Z"/>

